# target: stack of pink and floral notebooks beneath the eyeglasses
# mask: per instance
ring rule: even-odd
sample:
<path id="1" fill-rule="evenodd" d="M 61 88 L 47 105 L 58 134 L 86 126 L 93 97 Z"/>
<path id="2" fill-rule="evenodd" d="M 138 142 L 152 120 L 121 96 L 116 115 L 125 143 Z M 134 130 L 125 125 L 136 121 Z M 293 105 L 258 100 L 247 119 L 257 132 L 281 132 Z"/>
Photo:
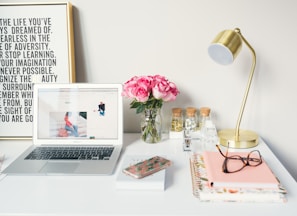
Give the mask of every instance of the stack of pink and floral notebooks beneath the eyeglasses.
<path id="1" fill-rule="evenodd" d="M 237 153 L 242 154 L 242 153 Z M 224 173 L 218 152 L 194 154 L 190 159 L 193 194 L 201 201 L 285 202 L 286 190 L 265 161 L 236 173 Z"/>

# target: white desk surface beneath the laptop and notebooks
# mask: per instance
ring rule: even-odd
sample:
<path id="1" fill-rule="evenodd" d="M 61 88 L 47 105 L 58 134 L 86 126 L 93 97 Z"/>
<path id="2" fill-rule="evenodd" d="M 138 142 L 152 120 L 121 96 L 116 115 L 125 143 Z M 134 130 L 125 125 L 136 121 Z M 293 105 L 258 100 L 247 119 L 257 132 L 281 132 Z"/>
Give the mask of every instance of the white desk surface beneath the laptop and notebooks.
<path id="1" fill-rule="evenodd" d="M 0 141 L 5 168 L 31 141 Z M 287 203 L 202 203 L 192 195 L 188 155 L 178 140 L 146 144 L 125 134 L 125 155 L 166 155 L 164 192 L 118 191 L 111 176 L 0 176 L 0 215 L 295 215 L 297 184 L 261 142 L 257 147 L 288 190 Z"/>

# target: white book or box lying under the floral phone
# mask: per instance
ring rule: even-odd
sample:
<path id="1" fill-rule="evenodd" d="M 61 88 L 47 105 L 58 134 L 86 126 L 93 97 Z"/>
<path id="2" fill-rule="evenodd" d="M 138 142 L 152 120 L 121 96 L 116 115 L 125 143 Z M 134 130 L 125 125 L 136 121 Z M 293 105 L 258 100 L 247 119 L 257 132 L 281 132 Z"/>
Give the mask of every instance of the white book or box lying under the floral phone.
<path id="1" fill-rule="evenodd" d="M 122 172 L 123 169 L 151 158 L 152 156 L 144 155 L 127 155 L 125 156 L 120 170 L 116 176 L 116 188 L 118 190 L 147 190 L 147 191 L 164 191 L 165 190 L 165 169 L 141 179 L 136 179 Z"/>

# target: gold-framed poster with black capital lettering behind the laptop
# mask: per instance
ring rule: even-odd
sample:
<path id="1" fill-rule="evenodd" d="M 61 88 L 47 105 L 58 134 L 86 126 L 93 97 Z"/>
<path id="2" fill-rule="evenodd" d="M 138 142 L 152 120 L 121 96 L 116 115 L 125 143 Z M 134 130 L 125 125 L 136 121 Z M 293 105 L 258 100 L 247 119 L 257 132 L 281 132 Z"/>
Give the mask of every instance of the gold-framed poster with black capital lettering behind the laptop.
<path id="1" fill-rule="evenodd" d="M 0 139 L 31 139 L 34 83 L 75 81 L 72 5 L 0 4 Z"/>

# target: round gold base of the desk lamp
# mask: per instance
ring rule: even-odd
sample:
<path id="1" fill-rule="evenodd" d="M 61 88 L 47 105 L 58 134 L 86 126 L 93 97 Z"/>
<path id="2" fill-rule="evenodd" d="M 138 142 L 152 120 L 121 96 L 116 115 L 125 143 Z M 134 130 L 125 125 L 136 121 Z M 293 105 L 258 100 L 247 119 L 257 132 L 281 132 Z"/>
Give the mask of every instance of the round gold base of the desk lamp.
<path id="1" fill-rule="evenodd" d="M 253 131 L 239 130 L 239 136 L 236 139 L 235 129 L 221 130 L 218 132 L 220 144 L 230 148 L 253 148 L 259 143 L 259 136 Z"/>

